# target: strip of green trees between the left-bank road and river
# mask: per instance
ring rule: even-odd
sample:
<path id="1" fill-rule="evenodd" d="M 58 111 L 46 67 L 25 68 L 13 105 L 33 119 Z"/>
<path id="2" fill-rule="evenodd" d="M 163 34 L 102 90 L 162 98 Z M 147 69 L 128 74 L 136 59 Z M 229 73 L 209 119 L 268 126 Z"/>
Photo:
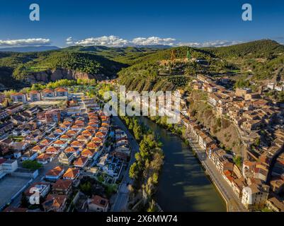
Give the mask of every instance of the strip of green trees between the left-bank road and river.
<path id="1" fill-rule="evenodd" d="M 129 176 L 135 179 L 135 192 L 142 195 L 142 210 L 156 211 L 154 194 L 157 191 L 159 172 L 164 163 L 161 142 L 152 131 L 146 129 L 135 117 L 121 117 L 140 141 L 140 152 L 135 154 L 135 162 L 130 166 Z"/>

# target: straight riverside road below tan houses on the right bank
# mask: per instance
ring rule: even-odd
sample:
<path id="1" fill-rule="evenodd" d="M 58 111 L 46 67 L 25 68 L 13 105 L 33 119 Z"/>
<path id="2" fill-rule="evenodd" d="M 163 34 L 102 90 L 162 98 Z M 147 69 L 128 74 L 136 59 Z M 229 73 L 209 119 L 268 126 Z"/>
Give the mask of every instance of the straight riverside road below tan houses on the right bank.
<path id="1" fill-rule="evenodd" d="M 205 151 L 201 150 L 198 143 L 193 141 L 190 136 L 188 136 L 188 141 L 191 143 L 191 147 L 195 150 L 196 155 L 198 155 L 198 159 L 202 163 L 203 167 L 205 167 L 206 172 L 210 175 L 215 186 L 217 186 L 217 189 L 219 189 L 222 196 L 225 198 L 228 212 L 247 212 L 240 199 L 236 194 L 234 194 L 232 187 L 229 186 L 226 180 L 222 177 L 222 174 L 217 171 L 217 168 L 207 157 Z"/>

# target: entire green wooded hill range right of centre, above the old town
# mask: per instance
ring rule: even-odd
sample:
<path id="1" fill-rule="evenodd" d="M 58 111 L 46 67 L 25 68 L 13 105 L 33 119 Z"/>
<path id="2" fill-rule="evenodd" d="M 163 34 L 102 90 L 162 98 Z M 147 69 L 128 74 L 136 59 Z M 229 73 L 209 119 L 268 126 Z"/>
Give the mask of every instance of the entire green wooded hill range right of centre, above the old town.
<path id="1" fill-rule="evenodd" d="M 174 61 L 171 61 L 174 52 Z M 186 61 L 190 53 L 191 61 Z M 203 59 L 200 64 L 196 59 Z M 188 79 L 202 73 L 230 76 L 239 84 L 248 81 L 284 79 L 284 46 L 273 40 L 259 40 L 229 47 L 176 47 L 140 57 L 119 72 L 120 82 L 136 90 L 183 88 Z"/>

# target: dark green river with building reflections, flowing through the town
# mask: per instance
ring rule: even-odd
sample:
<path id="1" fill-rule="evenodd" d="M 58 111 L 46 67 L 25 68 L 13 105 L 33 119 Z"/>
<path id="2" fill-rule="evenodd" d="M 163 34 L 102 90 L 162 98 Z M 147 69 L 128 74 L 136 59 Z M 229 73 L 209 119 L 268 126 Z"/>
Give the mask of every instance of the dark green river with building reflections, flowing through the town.
<path id="1" fill-rule="evenodd" d="M 205 175 L 191 148 L 178 136 L 145 117 L 140 119 L 163 143 L 164 166 L 159 175 L 157 202 L 164 211 L 225 212 L 222 197 Z"/>

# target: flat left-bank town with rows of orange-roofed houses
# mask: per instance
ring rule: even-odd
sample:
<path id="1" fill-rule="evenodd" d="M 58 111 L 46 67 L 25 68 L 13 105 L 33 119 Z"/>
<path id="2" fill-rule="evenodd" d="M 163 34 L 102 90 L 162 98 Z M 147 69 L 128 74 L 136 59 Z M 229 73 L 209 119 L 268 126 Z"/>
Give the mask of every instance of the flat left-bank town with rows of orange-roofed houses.
<path id="1" fill-rule="evenodd" d="M 84 94 L 90 89 L 11 94 L 13 103 L 0 114 L 1 210 L 110 210 L 132 150 L 120 119 L 107 117 L 101 102 Z"/>

